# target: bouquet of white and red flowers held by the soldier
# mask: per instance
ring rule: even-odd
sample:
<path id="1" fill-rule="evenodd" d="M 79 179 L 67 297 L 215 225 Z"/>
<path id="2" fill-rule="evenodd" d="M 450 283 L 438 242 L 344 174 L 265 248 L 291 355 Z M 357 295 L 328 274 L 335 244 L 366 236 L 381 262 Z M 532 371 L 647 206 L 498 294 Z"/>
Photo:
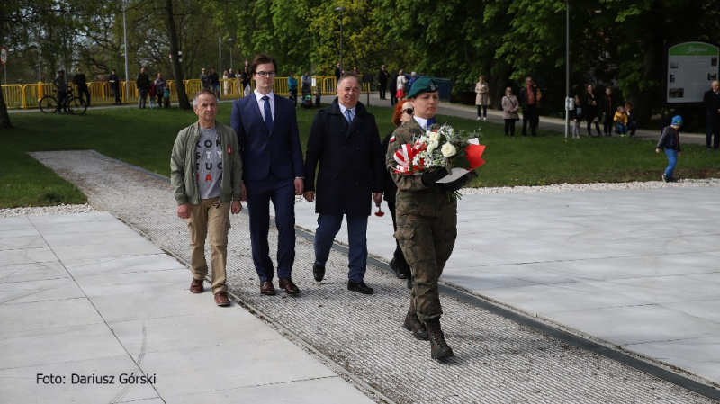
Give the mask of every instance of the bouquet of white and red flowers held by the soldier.
<path id="1" fill-rule="evenodd" d="M 424 135 L 412 139 L 395 152 L 395 173 L 422 175 L 425 171 L 446 168 L 450 175 L 438 181 L 449 183 L 482 166 L 485 146 L 479 144 L 477 130 L 455 130 L 450 125 L 434 124 Z M 456 196 L 459 196 L 455 193 Z"/>

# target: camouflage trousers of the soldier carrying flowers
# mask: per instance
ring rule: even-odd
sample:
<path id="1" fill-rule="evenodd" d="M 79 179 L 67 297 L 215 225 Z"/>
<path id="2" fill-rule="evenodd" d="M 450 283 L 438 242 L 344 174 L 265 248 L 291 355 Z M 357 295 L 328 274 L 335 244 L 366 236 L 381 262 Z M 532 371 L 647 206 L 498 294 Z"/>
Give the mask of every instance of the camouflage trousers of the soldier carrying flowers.
<path id="1" fill-rule="evenodd" d="M 451 213 L 451 214 L 450 214 Z M 412 273 L 415 311 L 422 322 L 439 319 L 443 314 L 437 280 L 453 254 L 457 238 L 457 213 L 437 217 L 403 214 L 398 217 L 395 238 L 400 242 Z"/>

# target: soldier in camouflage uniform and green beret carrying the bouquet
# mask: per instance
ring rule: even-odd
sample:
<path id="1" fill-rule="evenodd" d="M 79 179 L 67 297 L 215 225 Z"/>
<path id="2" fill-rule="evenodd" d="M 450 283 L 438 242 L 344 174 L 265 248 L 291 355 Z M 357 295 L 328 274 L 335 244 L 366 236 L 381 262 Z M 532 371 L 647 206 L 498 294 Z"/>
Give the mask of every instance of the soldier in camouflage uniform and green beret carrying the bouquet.
<path id="1" fill-rule="evenodd" d="M 447 175 L 445 168 L 423 175 L 394 172 L 395 151 L 425 133 L 435 122 L 440 103 L 437 85 L 427 77 L 415 82 L 408 99 L 415 109 L 414 119 L 395 130 L 386 155 L 386 165 L 398 185 L 395 238 L 400 241 L 412 273 L 410 310 L 403 326 L 412 331 L 414 337 L 429 339 L 432 358 L 442 359 L 453 356 L 453 350 L 447 346 L 440 328 L 443 310 L 437 280 L 453 253 L 457 236 L 457 201 L 448 198 L 447 193 L 470 183 L 477 174 L 470 171 L 451 183 L 437 184 Z"/>

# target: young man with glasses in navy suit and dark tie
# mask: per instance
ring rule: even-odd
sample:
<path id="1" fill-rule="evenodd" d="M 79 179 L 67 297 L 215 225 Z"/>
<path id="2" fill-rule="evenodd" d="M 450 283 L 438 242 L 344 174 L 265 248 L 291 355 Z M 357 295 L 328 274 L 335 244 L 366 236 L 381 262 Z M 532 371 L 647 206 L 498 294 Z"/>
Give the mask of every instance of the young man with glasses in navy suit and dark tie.
<path id="1" fill-rule="evenodd" d="M 243 200 L 250 214 L 253 264 L 260 293 L 274 295 L 273 261 L 267 234 L 270 201 L 277 226 L 277 277 L 288 294 L 300 292 L 291 273 L 295 261 L 295 195 L 302 195 L 303 163 L 293 102 L 273 92 L 277 63 L 260 53 L 249 68 L 256 82 L 253 93 L 232 103 L 230 126 L 238 133 L 242 153 Z"/>

